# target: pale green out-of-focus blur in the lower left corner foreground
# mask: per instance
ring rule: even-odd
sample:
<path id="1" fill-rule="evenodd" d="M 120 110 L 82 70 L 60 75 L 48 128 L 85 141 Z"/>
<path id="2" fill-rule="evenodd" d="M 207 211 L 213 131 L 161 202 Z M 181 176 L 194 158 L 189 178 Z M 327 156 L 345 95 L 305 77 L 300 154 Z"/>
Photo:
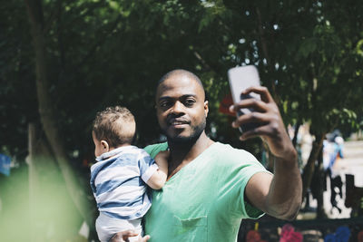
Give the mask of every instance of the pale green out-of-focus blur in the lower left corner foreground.
<path id="1" fill-rule="evenodd" d="M 86 241 L 78 235 L 83 219 L 52 166 L 33 178 L 28 166 L 13 169 L 0 178 L 0 192 L 0 241 Z"/>

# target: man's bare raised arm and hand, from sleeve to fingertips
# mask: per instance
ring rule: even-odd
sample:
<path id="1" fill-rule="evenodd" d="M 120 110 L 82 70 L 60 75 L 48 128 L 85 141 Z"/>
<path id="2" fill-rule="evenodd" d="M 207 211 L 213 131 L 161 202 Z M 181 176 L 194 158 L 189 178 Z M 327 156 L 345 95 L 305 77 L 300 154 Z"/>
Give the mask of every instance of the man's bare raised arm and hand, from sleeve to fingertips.
<path id="1" fill-rule="evenodd" d="M 253 108 L 250 114 L 241 115 L 232 123 L 234 128 L 249 122 L 260 123 L 260 127 L 243 132 L 240 140 L 260 136 L 275 156 L 274 175 L 267 172 L 254 174 L 245 188 L 251 205 L 273 217 L 291 220 L 299 212 L 302 182 L 299 173 L 297 152 L 282 122 L 280 111 L 265 87 L 251 87 L 243 94 L 256 92 L 261 100 L 247 99 L 231 106 L 231 110 Z"/>

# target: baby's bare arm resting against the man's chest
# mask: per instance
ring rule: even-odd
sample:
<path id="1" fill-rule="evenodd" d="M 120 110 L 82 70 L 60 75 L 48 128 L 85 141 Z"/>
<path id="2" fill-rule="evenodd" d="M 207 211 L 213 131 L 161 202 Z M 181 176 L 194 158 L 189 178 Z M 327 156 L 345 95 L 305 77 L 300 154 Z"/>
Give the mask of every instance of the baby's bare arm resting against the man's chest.
<path id="1" fill-rule="evenodd" d="M 146 182 L 146 184 L 152 189 L 162 189 L 168 177 L 168 158 L 169 151 L 161 151 L 155 157 L 155 162 L 159 166 L 152 177 Z"/>

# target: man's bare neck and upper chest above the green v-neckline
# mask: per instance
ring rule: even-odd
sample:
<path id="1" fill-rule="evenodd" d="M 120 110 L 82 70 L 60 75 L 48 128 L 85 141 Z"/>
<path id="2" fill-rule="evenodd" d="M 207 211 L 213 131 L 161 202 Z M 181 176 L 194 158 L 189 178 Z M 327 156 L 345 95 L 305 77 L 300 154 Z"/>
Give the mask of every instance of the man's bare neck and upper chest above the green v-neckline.
<path id="1" fill-rule="evenodd" d="M 175 143 L 168 141 L 170 148 L 168 179 L 170 179 L 185 165 L 197 158 L 204 150 L 207 150 L 213 142 L 213 140 L 207 137 L 204 131 L 195 142 Z"/>

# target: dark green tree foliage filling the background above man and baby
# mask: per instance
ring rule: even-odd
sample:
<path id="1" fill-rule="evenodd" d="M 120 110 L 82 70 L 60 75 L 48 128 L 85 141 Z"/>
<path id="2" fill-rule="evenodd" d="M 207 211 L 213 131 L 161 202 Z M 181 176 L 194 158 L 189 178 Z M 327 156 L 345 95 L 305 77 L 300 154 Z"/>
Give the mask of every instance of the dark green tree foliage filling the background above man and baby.
<path id="1" fill-rule="evenodd" d="M 240 143 L 231 117 L 218 112 L 227 70 L 255 64 L 285 123 L 309 121 L 319 135 L 362 125 L 361 5 L 349 1 L 167 0 L 40 1 L 49 93 L 72 166 L 87 184 L 96 111 L 123 105 L 135 114 L 137 144 L 159 140 L 155 83 L 175 68 L 201 77 L 210 101 L 208 131 Z M 34 49 L 22 1 L 0 6 L 0 149 L 21 157 L 27 123 L 40 124 Z"/>

